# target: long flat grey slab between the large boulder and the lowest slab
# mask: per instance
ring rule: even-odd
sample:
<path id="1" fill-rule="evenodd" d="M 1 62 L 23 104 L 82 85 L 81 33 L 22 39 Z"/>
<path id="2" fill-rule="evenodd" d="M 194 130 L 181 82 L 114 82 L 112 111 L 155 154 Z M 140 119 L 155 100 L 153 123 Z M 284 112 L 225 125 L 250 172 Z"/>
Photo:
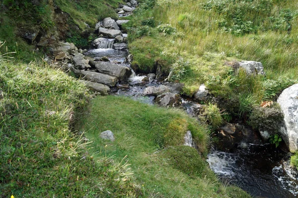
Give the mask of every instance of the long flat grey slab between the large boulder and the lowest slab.
<path id="1" fill-rule="evenodd" d="M 114 76 L 109 76 L 106 74 L 101 74 L 101 73 L 92 72 L 92 71 L 79 71 L 74 68 L 71 68 L 71 69 L 76 76 L 81 77 L 83 80 L 104 84 L 109 87 L 114 87 L 118 82 L 117 77 L 114 77 Z"/>

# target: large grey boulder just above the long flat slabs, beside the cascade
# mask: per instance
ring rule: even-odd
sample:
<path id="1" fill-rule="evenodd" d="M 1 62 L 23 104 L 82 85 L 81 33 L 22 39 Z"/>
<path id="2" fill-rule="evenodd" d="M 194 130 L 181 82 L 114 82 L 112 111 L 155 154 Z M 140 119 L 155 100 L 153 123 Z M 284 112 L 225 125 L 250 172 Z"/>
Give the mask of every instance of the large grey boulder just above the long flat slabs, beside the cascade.
<path id="1" fill-rule="evenodd" d="M 96 62 L 95 67 L 99 73 L 115 76 L 120 81 L 126 80 L 132 74 L 130 68 L 108 62 Z"/>

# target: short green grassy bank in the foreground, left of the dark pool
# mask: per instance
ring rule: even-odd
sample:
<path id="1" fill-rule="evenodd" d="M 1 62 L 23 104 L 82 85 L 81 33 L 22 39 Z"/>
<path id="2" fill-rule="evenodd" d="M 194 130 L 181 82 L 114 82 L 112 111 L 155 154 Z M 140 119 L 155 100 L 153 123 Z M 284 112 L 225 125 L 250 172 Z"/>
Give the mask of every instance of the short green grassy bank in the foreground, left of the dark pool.
<path id="1" fill-rule="evenodd" d="M 141 197 L 249 197 L 224 186 L 209 169 L 205 161 L 209 132 L 183 111 L 114 96 L 93 99 L 89 109 L 77 127 L 93 142 L 94 157 L 129 163 Z M 99 138 L 105 130 L 114 133 L 115 142 Z M 187 130 L 200 153 L 181 146 Z"/>

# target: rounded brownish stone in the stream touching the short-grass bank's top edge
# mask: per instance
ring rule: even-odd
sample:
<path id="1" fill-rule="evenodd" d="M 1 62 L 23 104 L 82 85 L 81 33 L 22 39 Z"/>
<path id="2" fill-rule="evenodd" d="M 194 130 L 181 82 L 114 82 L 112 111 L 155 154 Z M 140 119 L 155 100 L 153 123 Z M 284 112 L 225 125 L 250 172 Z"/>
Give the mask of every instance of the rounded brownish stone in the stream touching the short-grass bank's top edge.
<path id="1" fill-rule="evenodd" d="M 182 104 L 182 100 L 180 96 L 178 94 L 171 94 L 171 93 L 157 96 L 157 98 L 155 99 L 155 102 L 159 106 L 163 106 L 163 107 L 179 107 Z"/>

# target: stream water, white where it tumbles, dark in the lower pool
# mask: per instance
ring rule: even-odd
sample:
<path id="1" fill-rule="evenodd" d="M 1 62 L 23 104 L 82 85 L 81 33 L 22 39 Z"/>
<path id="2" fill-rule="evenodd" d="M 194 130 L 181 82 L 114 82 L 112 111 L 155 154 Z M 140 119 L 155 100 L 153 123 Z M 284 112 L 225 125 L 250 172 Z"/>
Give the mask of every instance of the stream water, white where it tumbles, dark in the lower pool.
<path id="1" fill-rule="evenodd" d="M 111 49 L 111 46 L 101 45 L 100 49 L 91 49 L 85 55 L 94 58 L 107 57 L 111 63 L 129 67 L 129 64 L 124 63 L 128 51 Z M 144 97 L 142 92 L 146 87 L 158 86 L 160 83 L 153 79 L 142 82 L 145 77 L 133 72 L 128 82 L 125 82 L 125 89 L 118 85 L 118 88 L 111 89 L 111 94 L 153 104 L 154 97 Z M 182 101 L 182 106 L 188 114 L 192 114 L 193 106 L 200 105 L 189 99 Z M 286 152 L 272 145 L 243 144 L 241 148 L 232 152 L 213 149 L 208 154 L 207 162 L 224 184 L 239 186 L 253 197 L 297 198 L 298 175 L 292 171 L 289 162 L 283 160 L 286 155 Z"/>

